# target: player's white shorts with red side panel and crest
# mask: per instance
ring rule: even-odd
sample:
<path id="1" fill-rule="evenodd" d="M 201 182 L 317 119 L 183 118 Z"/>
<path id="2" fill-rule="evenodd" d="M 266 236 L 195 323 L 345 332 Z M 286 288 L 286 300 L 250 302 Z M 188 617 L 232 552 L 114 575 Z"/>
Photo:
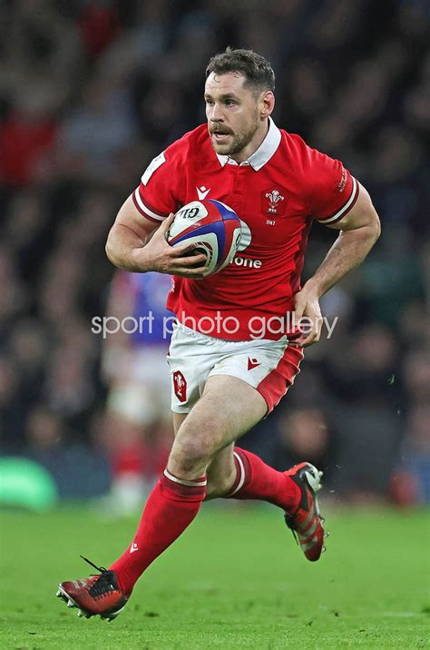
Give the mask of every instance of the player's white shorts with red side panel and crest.
<path id="1" fill-rule="evenodd" d="M 299 371 L 303 351 L 279 340 L 224 340 L 176 322 L 167 357 L 171 369 L 171 410 L 189 413 L 214 375 L 243 379 L 266 400 L 279 403 Z"/>

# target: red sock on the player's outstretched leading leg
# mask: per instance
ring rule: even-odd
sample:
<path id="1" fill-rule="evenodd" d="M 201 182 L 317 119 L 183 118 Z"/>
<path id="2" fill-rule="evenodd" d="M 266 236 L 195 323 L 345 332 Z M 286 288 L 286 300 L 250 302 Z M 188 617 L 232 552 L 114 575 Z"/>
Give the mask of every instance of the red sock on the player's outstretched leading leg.
<path id="1" fill-rule="evenodd" d="M 206 483 L 205 477 L 185 481 L 165 470 L 148 497 L 132 544 L 110 566 L 126 594 L 146 567 L 190 526 L 205 497 Z"/>

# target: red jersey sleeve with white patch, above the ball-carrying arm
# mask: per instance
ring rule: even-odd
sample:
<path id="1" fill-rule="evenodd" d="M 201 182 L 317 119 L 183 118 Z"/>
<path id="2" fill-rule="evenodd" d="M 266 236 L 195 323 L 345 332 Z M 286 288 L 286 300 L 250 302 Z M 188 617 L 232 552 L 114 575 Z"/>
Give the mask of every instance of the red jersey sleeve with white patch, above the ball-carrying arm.
<path id="1" fill-rule="evenodd" d="M 181 153 L 178 143 L 173 143 L 150 162 L 132 192 L 134 205 L 146 219 L 161 223 L 170 212 L 176 212 L 180 175 Z"/>

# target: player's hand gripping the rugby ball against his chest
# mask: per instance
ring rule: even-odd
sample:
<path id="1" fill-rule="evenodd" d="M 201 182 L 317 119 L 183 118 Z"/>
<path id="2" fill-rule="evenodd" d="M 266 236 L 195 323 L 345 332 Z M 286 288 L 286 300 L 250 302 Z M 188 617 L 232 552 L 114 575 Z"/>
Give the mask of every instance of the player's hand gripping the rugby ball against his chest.
<path id="1" fill-rule="evenodd" d="M 196 249 L 195 243 L 175 248 L 169 245 L 166 237 L 173 219 L 171 213 L 145 246 L 132 251 L 133 261 L 142 271 L 157 271 L 200 280 L 208 274 L 207 257 L 204 253 L 192 254 Z"/>

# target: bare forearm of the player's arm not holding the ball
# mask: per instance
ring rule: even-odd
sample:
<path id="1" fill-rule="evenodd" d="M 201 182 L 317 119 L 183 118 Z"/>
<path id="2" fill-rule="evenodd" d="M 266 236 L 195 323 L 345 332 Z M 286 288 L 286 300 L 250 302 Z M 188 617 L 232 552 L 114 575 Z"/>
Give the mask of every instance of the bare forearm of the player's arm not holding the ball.
<path id="1" fill-rule="evenodd" d="M 375 226 L 364 226 L 351 231 L 341 231 L 337 240 L 327 252 L 326 259 L 306 287 L 323 296 L 331 287 L 355 269 L 373 248 L 379 230 Z"/>

